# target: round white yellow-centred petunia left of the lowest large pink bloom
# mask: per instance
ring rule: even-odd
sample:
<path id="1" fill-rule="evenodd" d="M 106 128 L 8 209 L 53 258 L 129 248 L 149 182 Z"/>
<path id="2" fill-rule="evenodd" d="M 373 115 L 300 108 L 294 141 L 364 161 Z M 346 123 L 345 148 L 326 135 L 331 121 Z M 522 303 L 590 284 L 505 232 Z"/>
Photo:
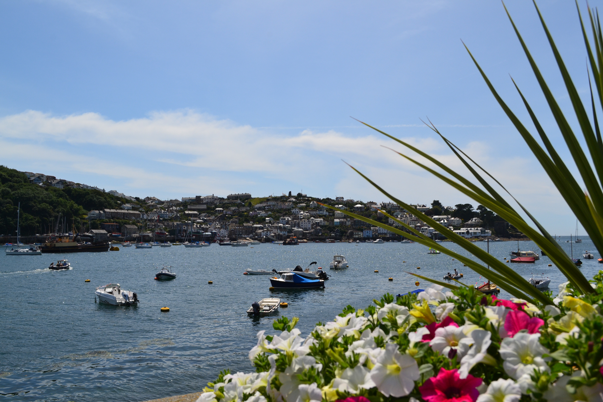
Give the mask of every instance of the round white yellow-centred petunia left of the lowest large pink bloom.
<path id="1" fill-rule="evenodd" d="M 398 346 L 392 343 L 385 345 L 370 374 L 379 392 L 396 398 L 408 395 L 419 377 L 417 361 L 408 354 L 400 354 Z"/>

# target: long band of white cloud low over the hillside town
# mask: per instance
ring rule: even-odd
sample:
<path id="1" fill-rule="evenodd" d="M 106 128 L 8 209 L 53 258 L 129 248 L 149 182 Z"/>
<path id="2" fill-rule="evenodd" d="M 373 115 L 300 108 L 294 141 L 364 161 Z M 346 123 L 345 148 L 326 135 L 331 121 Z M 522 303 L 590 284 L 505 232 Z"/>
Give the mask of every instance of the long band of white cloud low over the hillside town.
<path id="1" fill-rule="evenodd" d="M 463 169 L 434 137 L 403 140 L 455 170 Z M 279 135 L 192 110 L 155 112 L 127 121 L 98 113 L 52 116 L 34 110 L 0 118 L 3 164 L 133 196 L 240 191 L 266 195 L 303 188 L 317 196 L 385 200 L 343 164 L 344 159 L 407 202 L 440 199 L 445 205 L 476 205 L 382 145 L 412 157 L 403 145 L 377 133 L 349 136 L 335 130 L 303 130 Z M 537 206 L 538 212 L 550 214 L 565 208 L 534 161 L 507 157 L 485 142 L 458 145 L 529 209 Z"/>

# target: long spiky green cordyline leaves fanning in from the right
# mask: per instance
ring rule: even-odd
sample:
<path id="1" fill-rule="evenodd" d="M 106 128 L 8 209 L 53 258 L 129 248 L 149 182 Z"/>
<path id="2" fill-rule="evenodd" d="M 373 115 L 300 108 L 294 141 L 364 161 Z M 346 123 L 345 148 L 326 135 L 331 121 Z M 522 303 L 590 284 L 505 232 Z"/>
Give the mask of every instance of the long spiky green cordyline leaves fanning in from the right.
<path id="1" fill-rule="evenodd" d="M 528 110 L 529 115 L 531 116 L 532 123 L 540 136 L 542 141 L 542 145 L 538 143 L 538 141 L 534 138 L 532 133 L 523 125 L 523 123 L 517 118 L 517 116 L 511 111 L 510 107 L 507 106 L 504 100 L 499 96 L 494 89 L 494 86 L 488 80 L 485 72 L 479 66 L 475 57 L 470 53 L 469 48 L 466 49 L 469 52 L 470 57 L 473 62 L 475 62 L 476 67 L 481 73 L 482 77 L 485 80 L 485 83 L 490 88 L 490 91 L 494 95 L 494 98 L 498 101 L 502 109 L 507 113 L 507 116 L 510 118 L 511 122 L 514 124 L 516 129 L 519 131 L 520 135 L 522 135 L 523 139 L 525 139 L 526 144 L 534 153 L 534 156 L 538 159 L 538 162 L 545 169 L 546 173 L 549 177 L 551 177 L 552 182 L 555 187 L 559 190 L 563 199 L 566 200 L 567 205 L 572 209 L 572 212 L 576 215 L 586 232 L 589 234 L 590 239 L 593 241 L 599 252 L 603 250 L 603 190 L 601 188 L 601 183 L 603 183 L 603 141 L 601 139 L 601 129 L 599 127 L 598 119 L 597 119 L 597 109 L 595 103 L 595 94 L 593 94 L 592 86 L 590 91 L 590 105 L 586 105 L 582 103 L 578 95 L 578 91 L 573 84 L 572 78 L 567 72 L 566 66 L 561 59 L 561 55 L 558 52 L 557 46 L 555 46 L 555 42 L 549 33 L 548 28 L 546 27 L 545 21 L 542 18 L 540 10 L 538 10 L 537 5 L 534 2 L 534 6 L 536 7 L 536 11 L 538 13 L 538 17 L 540 18 L 540 22 L 542 24 L 543 29 L 545 30 L 546 37 L 549 40 L 549 44 L 551 45 L 551 49 L 555 56 L 555 60 L 557 61 L 558 68 L 561 72 L 561 76 L 563 77 L 563 81 L 565 83 L 567 93 L 569 95 L 570 100 L 572 101 L 573 113 L 575 113 L 575 118 L 579 123 L 579 128 L 582 132 L 582 136 L 584 136 L 584 141 L 586 142 L 586 152 L 582 149 L 578 138 L 576 137 L 572 127 L 570 127 L 566 116 L 561 111 L 561 107 L 558 105 L 557 101 L 553 97 L 549 86 L 546 84 L 544 78 L 542 77 L 538 66 L 536 65 L 534 59 L 529 53 L 528 47 L 522 39 L 522 36 L 517 30 L 513 19 L 511 19 L 510 14 L 507 11 L 507 15 L 511 21 L 511 25 L 513 25 L 513 29 L 517 34 L 517 38 L 522 45 L 523 51 L 528 57 L 528 61 L 532 67 L 532 71 L 534 71 L 535 77 L 540 85 L 541 91 L 543 95 L 545 95 L 546 101 L 548 103 L 549 108 L 555 118 L 557 126 L 566 141 L 567 148 L 569 149 L 570 154 L 572 155 L 573 161 L 575 162 L 576 167 L 578 168 L 581 182 L 584 183 L 584 187 L 586 191 L 582 190 L 581 185 L 578 180 L 570 173 L 569 168 L 566 163 L 563 161 L 561 156 L 557 153 L 555 148 L 552 146 L 551 141 L 549 140 L 548 135 L 545 130 L 541 126 L 538 121 L 537 116 L 534 114 L 531 106 L 529 105 L 526 98 L 523 96 L 517 84 L 513 81 L 519 96 L 522 98 L 523 104 Z M 578 4 L 576 3 L 576 7 Z M 505 7 L 505 10 L 507 8 Z M 589 39 L 589 34 L 587 33 L 586 28 L 584 27 L 584 22 L 582 21 L 582 17 L 579 13 L 578 9 L 579 22 L 582 28 L 582 34 L 584 36 L 584 43 L 586 44 L 587 53 L 589 55 L 590 60 L 590 68 L 592 70 L 592 77 L 595 81 L 596 88 L 596 96 L 599 100 L 599 107 L 603 104 L 603 31 L 601 30 L 601 24 L 599 22 L 598 12 L 590 10 L 589 8 L 589 18 L 590 18 L 590 27 L 592 31 L 592 37 Z M 591 45 L 592 42 L 592 45 Z M 592 121 L 587 113 L 587 109 L 590 108 L 592 110 Z M 509 191 L 498 181 L 496 180 L 490 173 L 488 173 L 484 168 L 482 168 L 479 164 L 477 164 L 472 158 L 466 155 L 460 148 L 456 147 L 455 144 L 449 141 L 446 137 L 444 137 L 438 129 L 433 125 L 429 124 L 429 127 L 434 130 L 443 141 L 450 147 L 450 150 L 458 156 L 461 162 L 463 162 L 464 166 L 473 174 L 473 177 L 477 180 L 469 179 L 459 174 L 458 172 L 452 170 L 447 167 L 447 165 L 438 161 L 437 159 L 429 156 L 427 153 L 419 150 L 418 148 L 408 144 L 405 141 L 395 138 L 394 136 L 389 135 L 388 133 L 382 132 L 379 129 L 376 129 L 373 126 L 370 126 L 367 123 L 361 122 L 368 127 L 376 130 L 377 132 L 382 133 L 385 136 L 393 139 L 399 144 L 404 145 L 409 148 L 413 152 L 427 159 L 437 168 L 431 168 L 428 165 L 422 164 L 421 162 L 413 159 L 403 153 L 397 152 L 400 156 L 408 161 L 413 162 L 417 166 L 425 169 L 429 173 L 434 174 L 434 176 L 440 178 L 444 182 L 451 185 L 456 190 L 461 191 L 461 193 L 466 194 L 472 199 L 479 202 L 481 205 L 490 209 L 496 214 L 500 215 L 507 222 L 511 223 L 511 225 L 515 226 L 517 229 L 526 234 L 534 243 L 543 250 L 546 255 L 551 258 L 551 261 L 557 268 L 566 276 L 567 280 L 572 284 L 573 288 L 576 292 L 581 294 L 592 293 L 592 287 L 589 284 L 589 281 L 582 275 L 580 270 L 575 266 L 573 261 L 568 257 L 566 252 L 561 249 L 561 246 L 557 241 L 546 231 L 546 229 L 534 218 L 534 216 L 521 205 L 519 201 L 515 199 L 515 197 L 511 196 Z M 590 156 L 590 161 L 589 161 Z M 351 167 L 351 166 L 350 166 Z M 482 250 L 480 247 L 473 244 L 471 241 L 466 238 L 461 237 L 458 234 L 455 234 L 450 229 L 436 222 L 431 217 L 423 214 L 418 211 L 416 208 L 411 205 L 403 202 L 402 200 L 397 199 L 392 194 L 388 193 L 384 188 L 377 185 L 377 183 L 373 182 L 373 180 L 369 179 L 367 176 L 362 174 L 360 171 L 356 170 L 352 167 L 356 172 L 358 172 L 362 177 L 364 177 L 368 182 L 370 182 L 377 190 L 381 191 L 381 193 L 385 194 L 385 196 L 389 197 L 391 200 L 396 202 L 398 205 L 405 208 L 407 211 L 416 215 L 418 219 L 423 220 L 423 222 L 431 225 L 435 230 L 439 231 L 441 234 L 452 240 L 454 243 L 459 244 L 459 246 L 466 249 L 470 254 L 475 256 L 477 260 L 463 257 L 462 255 L 456 254 L 452 250 L 446 249 L 443 247 L 441 243 L 435 243 L 434 240 L 427 237 L 426 235 L 421 234 L 414 228 L 405 223 L 401 222 L 399 219 L 391 216 L 385 211 L 380 211 L 382 214 L 396 222 L 398 225 L 403 228 L 408 229 L 412 234 L 416 236 L 413 237 L 413 240 L 417 241 L 417 243 L 425 244 L 429 247 L 437 247 L 438 250 L 443 252 L 444 254 L 450 255 L 452 257 L 457 258 L 462 261 L 464 264 L 469 266 L 475 272 L 479 273 L 479 275 L 484 276 L 485 278 L 490 279 L 490 281 L 495 282 L 500 289 L 506 290 L 511 295 L 530 300 L 532 302 L 538 301 L 544 304 L 552 304 L 551 299 L 545 294 L 541 293 L 539 290 L 535 289 L 534 286 L 529 284 L 525 279 L 522 278 L 518 273 L 514 272 L 513 269 L 506 266 L 502 261 L 497 260 L 492 255 Z M 441 173 L 443 171 L 443 173 Z M 513 200 L 517 202 L 520 209 L 529 217 L 532 221 L 533 226 L 526 222 L 525 219 L 520 215 L 519 211 L 517 211 L 501 194 L 494 190 L 494 188 L 488 183 L 487 178 L 496 182 L 502 190 L 513 197 Z M 329 208 L 333 208 L 329 206 Z M 341 210 L 340 210 L 341 211 Z M 402 231 L 400 228 L 396 228 L 394 226 L 385 225 L 384 223 L 377 222 L 376 220 L 371 220 L 361 215 L 353 214 L 352 212 L 341 211 L 347 215 L 354 217 L 355 219 L 362 220 L 364 222 L 370 223 L 371 225 L 377 226 L 379 228 L 387 229 L 388 231 L 400 234 L 400 235 L 408 235 L 408 232 Z M 535 228 L 534 228 L 535 226 Z M 479 261 L 478 261 L 479 260 Z M 486 266 L 490 266 L 493 270 L 488 270 Z"/>

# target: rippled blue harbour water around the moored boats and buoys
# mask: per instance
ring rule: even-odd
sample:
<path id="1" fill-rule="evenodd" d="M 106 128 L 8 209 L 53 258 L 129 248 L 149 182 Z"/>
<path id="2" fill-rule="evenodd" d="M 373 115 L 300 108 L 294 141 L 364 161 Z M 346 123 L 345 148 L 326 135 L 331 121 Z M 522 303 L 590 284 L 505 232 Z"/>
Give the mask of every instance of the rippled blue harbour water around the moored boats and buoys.
<path id="1" fill-rule="evenodd" d="M 569 253 L 565 240 L 560 238 L 560 244 Z M 588 238 L 573 246 L 574 257 L 584 250 L 595 254 L 595 260 L 582 265 L 587 278 L 603 269 Z M 536 250 L 528 241 L 520 247 Z M 501 259 L 515 249 L 514 242 L 490 243 L 491 254 Z M 196 392 L 221 369 L 253 370 L 247 353 L 257 331 L 274 331 L 272 317 L 247 317 L 245 310 L 253 301 L 282 298 L 289 307 L 280 314 L 300 317 L 298 328 L 306 336 L 316 322 L 331 321 L 348 304 L 366 307 L 385 292 L 417 289 L 416 278 L 405 270 L 441 278 L 456 268 L 464 273 L 464 282 L 483 282 L 458 261 L 426 252 L 417 243 L 129 247 L 64 255 L 72 269 L 58 272 L 47 269 L 58 255 L 0 255 L 0 400 L 136 402 Z M 312 261 L 328 268 L 334 254 L 345 255 L 350 267 L 327 269 L 332 278 L 324 290 L 271 292 L 267 276 L 242 275 L 247 268 L 306 267 Z M 513 268 L 525 278 L 532 272 L 551 277 L 557 294 L 564 278 L 548 263 L 543 257 Z M 164 265 L 177 273 L 174 281 L 153 279 Z M 394 281 L 388 281 L 390 276 Z M 140 305 L 95 303 L 95 287 L 109 282 L 137 292 Z M 420 284 L 421 289 L 427 286 Z M 502 292 L 500 297 L 508 295 Z M 163 306 L 169 313 L 160 312 Z"/>

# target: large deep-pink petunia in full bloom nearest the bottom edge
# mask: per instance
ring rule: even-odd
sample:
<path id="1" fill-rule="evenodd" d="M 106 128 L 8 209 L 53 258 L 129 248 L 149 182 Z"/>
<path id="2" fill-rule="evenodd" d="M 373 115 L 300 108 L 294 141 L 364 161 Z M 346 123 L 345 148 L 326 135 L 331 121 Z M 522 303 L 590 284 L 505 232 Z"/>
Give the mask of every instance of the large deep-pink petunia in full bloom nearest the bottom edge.
<path id="1" fill-rule="evenodd" d="M 441 368 L 437 377 L 428 378 L 418 390 L 421 397 L 428 402 L 475 402 L 479 397 L 476 388 L 481 384 L 481 378 L 469 374 L 461 380 L 458 369 Z"/>

